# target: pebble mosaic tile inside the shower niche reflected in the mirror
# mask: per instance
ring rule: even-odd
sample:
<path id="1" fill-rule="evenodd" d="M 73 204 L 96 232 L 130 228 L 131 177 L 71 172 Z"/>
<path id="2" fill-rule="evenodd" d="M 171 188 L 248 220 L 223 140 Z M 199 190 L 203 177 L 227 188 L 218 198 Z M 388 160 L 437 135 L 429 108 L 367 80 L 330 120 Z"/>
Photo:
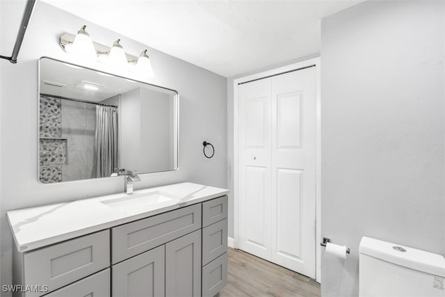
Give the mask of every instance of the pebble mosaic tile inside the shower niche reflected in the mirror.
<path id="1" fill-rule="evenodd" d="M 40 138 L 40 166 L 67 164 L 67 140 Z"/>

